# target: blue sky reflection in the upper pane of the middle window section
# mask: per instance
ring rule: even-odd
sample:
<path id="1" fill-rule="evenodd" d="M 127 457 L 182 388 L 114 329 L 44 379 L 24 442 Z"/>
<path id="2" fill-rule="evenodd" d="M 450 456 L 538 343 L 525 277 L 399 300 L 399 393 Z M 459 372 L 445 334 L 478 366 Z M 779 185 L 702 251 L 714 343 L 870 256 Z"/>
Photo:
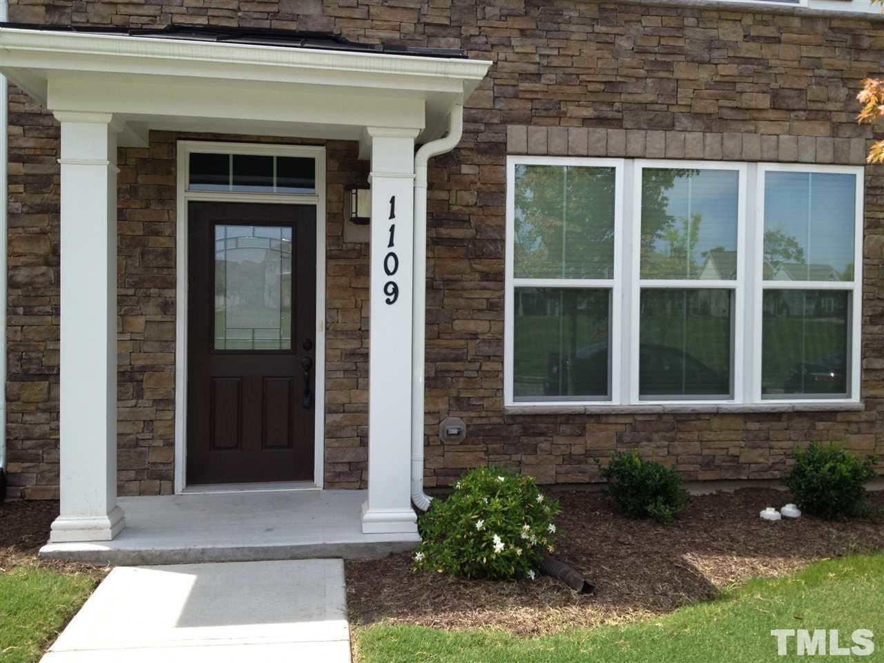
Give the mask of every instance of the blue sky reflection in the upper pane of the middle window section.
<path id="1" fill-rule="evenodd" d="M 668 201 L 666 213 L 674 218 L 674 227 L 678 230 L 682 230 L 684 219 L 690 217 L 693 223 L 694 218 L 701 217 L 696 245 L 690 247 L 690 255 L 697 263 L 702 266 L 705 252 L 713 248 L 736 250 L 737 171 L 693 171 L 676 177 L 673 186 L 663 193 Z M 658 237 L 653 247 L 659 253 L 666 253 L 669 245 L 667 240 Z"/>

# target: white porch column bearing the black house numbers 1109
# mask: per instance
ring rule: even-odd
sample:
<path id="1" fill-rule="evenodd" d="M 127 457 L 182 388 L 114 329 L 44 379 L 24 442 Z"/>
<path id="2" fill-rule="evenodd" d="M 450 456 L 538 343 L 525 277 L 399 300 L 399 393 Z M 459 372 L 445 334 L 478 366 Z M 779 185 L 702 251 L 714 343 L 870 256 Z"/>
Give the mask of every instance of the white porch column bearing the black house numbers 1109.
<path id="1" fill-rule="evenodd" d="M 411 508 L 412 232 L 416 129 L 369 127 L 369 499 L 365 533 L 414 533 Z"/>

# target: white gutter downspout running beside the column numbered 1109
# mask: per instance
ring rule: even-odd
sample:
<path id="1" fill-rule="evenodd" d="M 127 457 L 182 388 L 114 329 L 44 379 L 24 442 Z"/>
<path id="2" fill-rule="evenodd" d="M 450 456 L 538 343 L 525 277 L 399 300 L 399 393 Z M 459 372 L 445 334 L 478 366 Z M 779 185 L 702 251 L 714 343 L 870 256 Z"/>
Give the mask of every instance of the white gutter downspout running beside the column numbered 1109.
<path id="1" fill-rule="evenodd" d="M 414 313 L 411 318 L 411 501 L 430 508 L 423 492 L 423 363 L 427 320 L 427 162 L 453 150 L 463 135 L 463 104 L 454 105 L 445 138 L 426 143 L 415 154 Z"/>

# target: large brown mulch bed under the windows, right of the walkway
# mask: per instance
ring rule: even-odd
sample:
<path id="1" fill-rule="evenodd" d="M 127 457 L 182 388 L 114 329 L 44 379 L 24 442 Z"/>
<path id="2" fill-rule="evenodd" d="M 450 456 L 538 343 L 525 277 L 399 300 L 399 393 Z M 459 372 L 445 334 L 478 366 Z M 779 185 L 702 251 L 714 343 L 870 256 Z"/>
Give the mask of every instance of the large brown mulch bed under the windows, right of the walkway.
<path id="1" fill-rule="evenodd" d="M 816 560 L 884 550 L 881 517 L 762 521 L 762 508 L 789 501 L 788 493 L 773 489 L 697 496 L 669 526 L 615 514 L 598 492 L 551 496 L 562 505 L 555 557 L 596 583 L 595 595 L 575 594 L 548 577 L 491 583 L 413 573 L 410 554 L 402 553 L 347 561 L 351 620 L 546 635 L 646 619 L 713 598 L 751 576 L 778 576 Z M 873 493 L 872 500 L 884 506 L 884 492 Z"/>

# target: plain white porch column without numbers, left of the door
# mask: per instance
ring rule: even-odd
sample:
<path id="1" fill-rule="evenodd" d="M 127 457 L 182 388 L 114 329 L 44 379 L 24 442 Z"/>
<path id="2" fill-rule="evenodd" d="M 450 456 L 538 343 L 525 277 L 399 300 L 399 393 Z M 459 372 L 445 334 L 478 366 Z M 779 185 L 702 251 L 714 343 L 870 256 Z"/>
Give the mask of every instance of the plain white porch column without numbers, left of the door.
<path id="1" fill-rule="evenodd" d="M 104 541 L 117 506 L 117 131 L 103 113 L 61 122 L 61 514 L 50 541 Z"/>

